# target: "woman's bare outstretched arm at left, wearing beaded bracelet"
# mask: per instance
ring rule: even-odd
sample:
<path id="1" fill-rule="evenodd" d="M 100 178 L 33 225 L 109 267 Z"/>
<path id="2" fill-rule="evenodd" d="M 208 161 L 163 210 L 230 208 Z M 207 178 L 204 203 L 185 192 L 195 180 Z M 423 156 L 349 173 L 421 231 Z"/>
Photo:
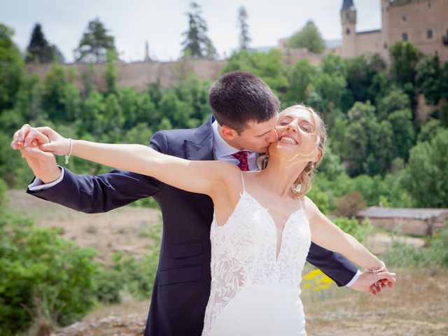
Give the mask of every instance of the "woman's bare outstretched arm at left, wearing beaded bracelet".
<path id="1" fill-rule="evenodd" d="M 232 172 L 237 167 L 227 162 L 190 161 L 165 155 L 138 144 L 99 144 L 91 141 L 66 139 L 49 127 L 38 127 L 36 132 L 51 134 L 50 143 L 40 148 L 28 146 L 34 139 L 27 137 L 25 147 L 29 153 L 68 155 L 83 158 L 102 165 L 123 169 L 156 179 L 179 189 L 210 196 L 222 193 Z M 31 134 L 32 135 L 32 134 Z M 48 153 L 46 153 L 48 154 Z M 239 171 L 237 172 L 239 174 Z"/>

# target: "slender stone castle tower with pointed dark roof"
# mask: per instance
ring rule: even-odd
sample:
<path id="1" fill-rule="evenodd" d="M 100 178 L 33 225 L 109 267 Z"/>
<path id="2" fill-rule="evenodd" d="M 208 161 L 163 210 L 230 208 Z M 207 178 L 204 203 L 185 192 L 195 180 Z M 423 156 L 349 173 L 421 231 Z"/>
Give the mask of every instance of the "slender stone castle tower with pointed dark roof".
<path id="1" fill-rule="evenodd" d="M 356 8 L 353 0 L 344 0 L 341 9 L 342 57 L 356 56 Z"/>

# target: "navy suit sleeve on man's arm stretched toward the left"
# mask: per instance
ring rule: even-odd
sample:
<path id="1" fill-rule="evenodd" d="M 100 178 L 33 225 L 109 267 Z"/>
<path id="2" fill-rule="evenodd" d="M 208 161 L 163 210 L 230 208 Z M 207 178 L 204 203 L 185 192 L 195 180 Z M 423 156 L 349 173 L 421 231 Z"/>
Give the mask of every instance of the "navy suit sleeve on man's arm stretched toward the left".
<path id="1" fill-rule="evenodd" d="M 156 151 L 167 153 L 165 133 L 154 134 L 150 146 Z M 78 175 L 65 169 L 64 179 L 55 186 L 38 191 L 27 190 L 27 193 L 76 211 L 94 214 L 155 195 L 163 186 L 162 182 L 151 176 L 120 169 L 98 176 Z"/>

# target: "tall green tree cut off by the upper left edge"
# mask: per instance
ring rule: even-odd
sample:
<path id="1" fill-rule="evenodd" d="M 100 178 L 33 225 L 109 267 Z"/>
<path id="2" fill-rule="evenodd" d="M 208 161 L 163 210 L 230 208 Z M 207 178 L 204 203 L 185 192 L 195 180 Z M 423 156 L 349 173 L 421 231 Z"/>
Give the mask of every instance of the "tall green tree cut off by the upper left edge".
<path id="1" fill-rule="evenodd" d="M 13 43 L 14 31 L 0 23 L 0 112 L 11 109 L 25 77 L 20 50 Z"/>

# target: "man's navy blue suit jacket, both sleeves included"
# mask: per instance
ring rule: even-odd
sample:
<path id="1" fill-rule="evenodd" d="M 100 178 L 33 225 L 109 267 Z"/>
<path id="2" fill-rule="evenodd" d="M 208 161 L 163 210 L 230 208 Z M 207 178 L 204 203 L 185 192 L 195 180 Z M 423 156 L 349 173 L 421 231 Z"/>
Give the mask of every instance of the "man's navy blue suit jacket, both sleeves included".
<path id="1" fill-rule="evenodd" d="M 214 160 L 211 119 L 193 130 L 154 134 L 151 147 L 189 160 Z M 65 169 L 56 186 L 32 192 L 65 207 L 99 213 L 152 196 L 163 217 L 162 246 L 155 277 L 146 336 L 199 336 L 210 294 L 210 225 L 213 202 L 149 176 L 113 170 L 99 176 L 76 175 Z M 344 286 L 356 267 L 339 253 L 311 244 L 307 260 Z"/>

